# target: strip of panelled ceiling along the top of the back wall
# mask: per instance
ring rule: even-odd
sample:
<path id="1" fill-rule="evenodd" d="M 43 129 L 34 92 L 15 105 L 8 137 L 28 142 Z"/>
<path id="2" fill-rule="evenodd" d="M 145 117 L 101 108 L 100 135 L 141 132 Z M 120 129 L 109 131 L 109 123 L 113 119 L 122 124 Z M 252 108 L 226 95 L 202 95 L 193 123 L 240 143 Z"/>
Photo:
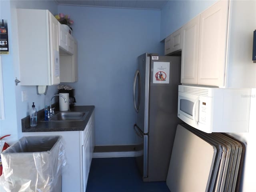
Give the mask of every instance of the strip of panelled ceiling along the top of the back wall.
<path id="1" fill-rule="evenodd" d="M 56 0 L 58 5 L 161 10 L 167 0 Z"/>

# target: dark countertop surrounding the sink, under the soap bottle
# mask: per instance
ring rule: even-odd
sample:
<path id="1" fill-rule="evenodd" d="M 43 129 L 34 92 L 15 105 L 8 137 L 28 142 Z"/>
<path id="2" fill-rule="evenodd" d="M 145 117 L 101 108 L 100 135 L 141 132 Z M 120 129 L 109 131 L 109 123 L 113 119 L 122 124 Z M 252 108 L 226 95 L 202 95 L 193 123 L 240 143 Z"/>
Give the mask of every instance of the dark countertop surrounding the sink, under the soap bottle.
<path id="1" fill-rule="evenodd" d="M 42 118 L 40 115 L 38 117 L 39 120 L 37 122 L 37 126 L 35 127 L 30 127 L 30 117 L 27 116 L 21 120 L 22 132 L 83 131 L 92 115 L 92 112 L 94 111 L 94 108 L 94 106 L 75 106 L 69 110 L 69 112 L 88 111 L 89 113 L 83 121 L 40 122 L 40 119 Z"/>

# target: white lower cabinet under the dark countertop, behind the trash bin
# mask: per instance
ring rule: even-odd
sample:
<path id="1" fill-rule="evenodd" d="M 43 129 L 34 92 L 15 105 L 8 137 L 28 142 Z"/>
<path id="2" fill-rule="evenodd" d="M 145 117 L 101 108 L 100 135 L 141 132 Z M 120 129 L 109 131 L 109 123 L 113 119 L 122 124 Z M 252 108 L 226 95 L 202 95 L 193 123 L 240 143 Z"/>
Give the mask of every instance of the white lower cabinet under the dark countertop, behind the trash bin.
<path id="1" fill-rule="evenodd" d="M 85 192 L 94 149 L 94 112 L 84 131 L 23 132 L 23 136 L 62 136 L 67 159 L 62 170 L 62 192 Z"/>

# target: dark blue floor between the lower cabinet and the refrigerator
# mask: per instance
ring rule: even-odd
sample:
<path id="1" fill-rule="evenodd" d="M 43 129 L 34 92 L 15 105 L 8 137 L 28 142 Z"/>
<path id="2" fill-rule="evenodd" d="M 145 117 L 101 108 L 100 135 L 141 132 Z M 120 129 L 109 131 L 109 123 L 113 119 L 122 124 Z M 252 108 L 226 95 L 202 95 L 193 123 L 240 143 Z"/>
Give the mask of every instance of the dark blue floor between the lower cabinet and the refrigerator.
<path id="1" fill-rule="evenodd" d="M 135 158 L 93 158 L 86 192 L 170 192 L 166 182 L 143 182 Z"/>

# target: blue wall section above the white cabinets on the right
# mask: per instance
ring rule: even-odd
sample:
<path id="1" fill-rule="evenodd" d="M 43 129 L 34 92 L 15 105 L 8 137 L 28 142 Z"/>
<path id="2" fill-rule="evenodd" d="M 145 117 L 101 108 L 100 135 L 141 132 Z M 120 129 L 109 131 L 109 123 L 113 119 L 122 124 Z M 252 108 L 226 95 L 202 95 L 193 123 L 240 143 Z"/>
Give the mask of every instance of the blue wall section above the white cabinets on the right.
<path id="1" fill-rule="evenodd" d="M 214 2 L 216 0 L 169 0 L 161 11 L 160 39 L 172 34 Z"/>

